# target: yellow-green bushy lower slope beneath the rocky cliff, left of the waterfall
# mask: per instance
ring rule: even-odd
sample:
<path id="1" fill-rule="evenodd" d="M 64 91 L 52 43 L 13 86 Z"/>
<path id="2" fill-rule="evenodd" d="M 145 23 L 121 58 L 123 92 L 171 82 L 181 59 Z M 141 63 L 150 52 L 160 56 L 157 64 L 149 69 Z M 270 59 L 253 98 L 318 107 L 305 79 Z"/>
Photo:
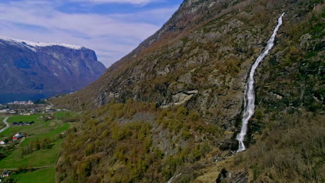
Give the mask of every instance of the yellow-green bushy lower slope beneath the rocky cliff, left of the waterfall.
<path id="1" fill-rule="evenodd" d="M 82 119 L 63 144 L 60 182 L 166 182 L 178 167 L 199 162 L 223 134 L 184 107 L 157 110 L 135 101 L 105 105 Z"/>

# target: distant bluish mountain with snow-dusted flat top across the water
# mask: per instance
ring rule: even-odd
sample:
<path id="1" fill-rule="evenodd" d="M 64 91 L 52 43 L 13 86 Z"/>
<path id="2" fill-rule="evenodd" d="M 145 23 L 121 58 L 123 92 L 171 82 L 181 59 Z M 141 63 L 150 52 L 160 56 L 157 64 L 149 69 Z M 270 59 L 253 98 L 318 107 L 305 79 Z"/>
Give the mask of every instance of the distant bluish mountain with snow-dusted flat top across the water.
<path id="1" fill-rule="evenodd" d="M 97 80 L 106 68 L 94 51 L 81 46 L 0 37 L 0 69 L 0 102 L 6 102 L 74 92 Z"/>

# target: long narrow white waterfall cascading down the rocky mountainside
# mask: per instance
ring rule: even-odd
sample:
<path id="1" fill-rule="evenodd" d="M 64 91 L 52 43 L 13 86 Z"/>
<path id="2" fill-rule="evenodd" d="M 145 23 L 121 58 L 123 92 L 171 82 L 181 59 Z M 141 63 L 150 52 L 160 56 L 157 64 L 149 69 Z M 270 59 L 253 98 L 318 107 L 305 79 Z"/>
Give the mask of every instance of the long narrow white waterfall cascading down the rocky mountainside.
<path id="1" fill-rule="evenodd" d="M 265 56 L 269 53 L 269 51 L 274 46 L 274 40 L 276 37 L 276 33 L 278 32 L 278 28 L 282 25 L 282 17 L 285 13 L 281 15 L 280 18 L 278 18 L 278 25 L 276 28 L 274 28 L 273 34 L 269 41 L 267 42 L 267 46 L 265 50 L 258 56 L 256 59 L 256 62 L 251 67 L 251 72 L 249 73 L 249 78 L 247 80 L 247 84 L 245 86 L 245 98 L 244 98 L 244 113 L 242 116 L 242 130 L 240 131 L 240 134 L 237 136 L 237 140 L 239 141 L 239 148 L 237 152 L 246 150 L 244 145 L 244 137 L 247 133 L 247 124 L 249 122 L 249 119 L 251 119 L 251 116 L 254 114 L 255 110 L 255 94 L 254 94 L 254 75 L 256 68 L 258 67 L 258 64 L 262 62 L 262 60 L 265 58 Z"/>

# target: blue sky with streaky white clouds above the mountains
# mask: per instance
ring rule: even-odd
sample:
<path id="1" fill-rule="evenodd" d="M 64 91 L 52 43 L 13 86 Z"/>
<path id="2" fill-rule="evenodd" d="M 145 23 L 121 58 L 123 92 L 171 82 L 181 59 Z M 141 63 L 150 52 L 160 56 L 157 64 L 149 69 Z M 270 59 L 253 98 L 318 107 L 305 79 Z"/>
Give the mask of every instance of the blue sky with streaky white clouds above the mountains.
<path id="1" fill-rule="evenodd" d="M 1 0 L 0 35 L 96 51 L 106 67 L 172 17 L 183 0 Z"/>

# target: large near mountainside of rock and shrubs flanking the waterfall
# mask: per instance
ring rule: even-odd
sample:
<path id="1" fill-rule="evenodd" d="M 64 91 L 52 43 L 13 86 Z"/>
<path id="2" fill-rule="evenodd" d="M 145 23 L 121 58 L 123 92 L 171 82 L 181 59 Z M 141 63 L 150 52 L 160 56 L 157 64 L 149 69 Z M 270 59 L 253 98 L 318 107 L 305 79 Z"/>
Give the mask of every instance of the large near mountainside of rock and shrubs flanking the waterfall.
<path id="1" fill-rule="evenodd" d="M 53 101 L 91 109 L 69 132 L 59 180 L 324 182 L 323 3 L 184 1 L 103 77 Z M 283 12 L 256 73 L 248 150 L 233 155 L 247 75 Z"/>

